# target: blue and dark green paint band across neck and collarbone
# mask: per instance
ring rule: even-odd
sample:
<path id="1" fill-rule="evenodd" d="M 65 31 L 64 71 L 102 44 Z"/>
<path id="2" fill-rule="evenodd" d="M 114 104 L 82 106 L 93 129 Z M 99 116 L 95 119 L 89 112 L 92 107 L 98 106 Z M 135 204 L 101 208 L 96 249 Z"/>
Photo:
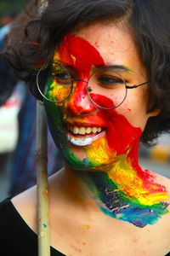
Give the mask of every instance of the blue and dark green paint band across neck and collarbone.
<path id="1" fill-rule="evenodd" d="M 147 224 L 156 224 L 162 214 L 167 212 L 167 202 L 161 202 L 152 206 L 143 206 L 136 198 L 126 195 L 105 172 L 90 172 L 89 176 L 99 191 L 100 210 L 112 218 L 127 221 L 139 228 Z M 95 190 L 95 189 L 94 189 Z"/>

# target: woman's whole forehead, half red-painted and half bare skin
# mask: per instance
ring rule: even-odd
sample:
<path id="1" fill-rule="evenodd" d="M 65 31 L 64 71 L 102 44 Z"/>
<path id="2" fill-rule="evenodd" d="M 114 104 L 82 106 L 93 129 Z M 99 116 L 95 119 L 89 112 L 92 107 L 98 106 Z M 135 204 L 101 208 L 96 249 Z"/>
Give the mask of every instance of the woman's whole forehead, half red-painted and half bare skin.
<path id="1" fill-rule="evenodd" d="M 66 35 L 54 58 L 84 70 L 100 65 L 123 65 L 135 75 L 145 76 L 133 36 L 122 23 L 97 22 Z"/>

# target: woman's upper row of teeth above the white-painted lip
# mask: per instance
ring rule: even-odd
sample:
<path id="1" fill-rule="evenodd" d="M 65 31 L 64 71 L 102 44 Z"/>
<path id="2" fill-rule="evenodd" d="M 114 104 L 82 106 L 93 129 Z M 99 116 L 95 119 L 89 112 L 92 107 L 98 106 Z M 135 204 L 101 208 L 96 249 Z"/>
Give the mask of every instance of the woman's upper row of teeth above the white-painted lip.
<path id="1" fill-rule="evenodd" d="M 101 127 L 77 127 L 72 125 L 67 125 L 67 129 L 74 134 L 81 134 L 81 135 L 90 134 L 92 132 L 97 133 L 102 131 Z"/>

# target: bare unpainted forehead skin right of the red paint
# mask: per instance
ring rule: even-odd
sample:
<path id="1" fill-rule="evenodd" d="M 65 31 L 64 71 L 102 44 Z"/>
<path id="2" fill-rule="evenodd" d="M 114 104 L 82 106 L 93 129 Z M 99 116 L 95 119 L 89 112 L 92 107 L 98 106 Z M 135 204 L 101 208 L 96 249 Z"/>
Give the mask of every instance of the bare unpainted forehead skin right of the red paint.
<path id="1" fill-rule="evenodd" d="M 131 33 L 121 23 L 96 23 L 82 28 L 76 34 L 93 45 L 108 64 L 111 61 L 129 62 L 130 65 L 139 62 L 139 54 Z"/>

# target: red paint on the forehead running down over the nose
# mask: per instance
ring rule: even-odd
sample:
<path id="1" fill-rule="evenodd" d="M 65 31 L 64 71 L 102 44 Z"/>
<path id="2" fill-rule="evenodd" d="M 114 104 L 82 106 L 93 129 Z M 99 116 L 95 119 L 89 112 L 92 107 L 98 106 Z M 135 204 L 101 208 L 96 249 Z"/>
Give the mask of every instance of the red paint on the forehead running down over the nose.
<path id="1" fill-rule="evenodd" d="M 67 34 L 59 47 L 59 57 L 66 64 L 75 68 L 79 79 L 88 81 L 91 67 L 103 66 L 105 63 L 99 52 L 82 38 Z M 87 96 L 87 83 L 77 82 L 76 89 L 68 102 L 68 109 L 73 114 L 91 113 L 96 109 Z"/>

